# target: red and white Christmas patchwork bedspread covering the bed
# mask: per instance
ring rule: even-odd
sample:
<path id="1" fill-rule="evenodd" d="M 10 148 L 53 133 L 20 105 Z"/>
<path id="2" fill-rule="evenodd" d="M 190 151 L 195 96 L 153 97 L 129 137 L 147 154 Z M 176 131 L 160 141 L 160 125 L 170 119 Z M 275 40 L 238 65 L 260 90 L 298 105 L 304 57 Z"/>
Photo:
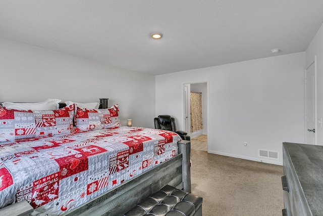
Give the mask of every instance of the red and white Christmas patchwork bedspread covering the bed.
<path id="1" fill-rule="evenodd" d="M 0 143 L 0 208 L 60 215 L 178 154 L 169 131 L 121 126 Z"/>

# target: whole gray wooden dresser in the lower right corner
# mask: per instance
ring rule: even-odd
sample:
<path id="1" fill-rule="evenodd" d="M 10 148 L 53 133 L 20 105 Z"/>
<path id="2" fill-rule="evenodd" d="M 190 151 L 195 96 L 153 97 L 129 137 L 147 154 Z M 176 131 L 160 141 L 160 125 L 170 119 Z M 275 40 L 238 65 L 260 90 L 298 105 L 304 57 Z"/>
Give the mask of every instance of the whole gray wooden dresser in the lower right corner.
<path id="1" fill-rule="evenodd" d="M 283 215 L 323 215 L 323 146 L 283 143 Z"/>

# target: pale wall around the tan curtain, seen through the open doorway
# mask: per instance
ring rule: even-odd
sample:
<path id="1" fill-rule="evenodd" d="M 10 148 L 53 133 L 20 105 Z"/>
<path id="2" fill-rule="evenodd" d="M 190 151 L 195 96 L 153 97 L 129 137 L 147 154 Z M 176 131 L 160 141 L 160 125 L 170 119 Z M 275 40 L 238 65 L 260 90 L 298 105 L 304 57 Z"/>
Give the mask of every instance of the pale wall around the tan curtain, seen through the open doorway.
<path id="1" fill-rule="evenodd" d="M 191 92 L 200 92 L 202 93 L 202 119 L 203 119 L 203 129 L 199 134 L 195 136 L 191 135 L 191 138 L 194 138 L 200 134 L 207 135 L 207 89 L 206 82 L 203 83 L 192 83 L 191 84 Z"/>

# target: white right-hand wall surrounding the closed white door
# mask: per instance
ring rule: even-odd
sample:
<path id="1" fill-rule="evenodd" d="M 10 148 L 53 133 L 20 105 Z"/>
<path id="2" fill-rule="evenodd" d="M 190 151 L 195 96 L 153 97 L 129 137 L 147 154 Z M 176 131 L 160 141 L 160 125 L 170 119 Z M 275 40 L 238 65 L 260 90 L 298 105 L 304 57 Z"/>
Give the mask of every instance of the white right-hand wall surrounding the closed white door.
<path id="1" fill-rule="evenodd" d="M 323 24 L 306 50 L 306 68 L 314 61 L 315 55 L 317 66 L 317 119 L 320 120 L 320 118 L 323 118 Z M 318 126 L 315 128 L 315 133 L 317 145 L 323 145 L 323 127 Z"/>

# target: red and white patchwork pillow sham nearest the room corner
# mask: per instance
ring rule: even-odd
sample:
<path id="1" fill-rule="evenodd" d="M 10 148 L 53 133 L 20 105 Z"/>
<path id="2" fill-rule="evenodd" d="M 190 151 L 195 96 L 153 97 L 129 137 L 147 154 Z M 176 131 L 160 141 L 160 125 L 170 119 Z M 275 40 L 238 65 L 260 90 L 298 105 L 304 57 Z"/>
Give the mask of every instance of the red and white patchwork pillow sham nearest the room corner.
<path id="1" fill-rule="evenodd" d="M 80 131 L 120 126 L 119 105 L 116 104 L 107 109 L 81 109 L 77 107 L 75 123 Z"/>

